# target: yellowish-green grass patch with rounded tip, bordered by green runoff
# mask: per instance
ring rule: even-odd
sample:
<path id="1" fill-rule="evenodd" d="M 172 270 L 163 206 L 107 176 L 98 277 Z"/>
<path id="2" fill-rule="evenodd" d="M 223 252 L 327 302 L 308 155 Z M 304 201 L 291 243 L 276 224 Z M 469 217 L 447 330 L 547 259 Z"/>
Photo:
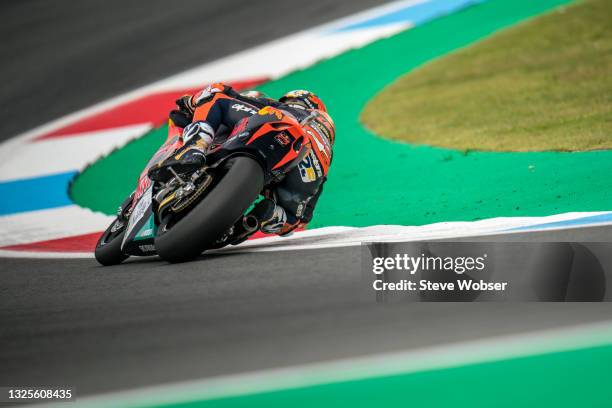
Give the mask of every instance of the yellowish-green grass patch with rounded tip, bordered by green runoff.
<path id="1" fill-rule="evenodd" d="M 361 120 L 392 139 L 460 150 L 610 149 L 612 1 L 558 8 L 426 64 Z"/>

